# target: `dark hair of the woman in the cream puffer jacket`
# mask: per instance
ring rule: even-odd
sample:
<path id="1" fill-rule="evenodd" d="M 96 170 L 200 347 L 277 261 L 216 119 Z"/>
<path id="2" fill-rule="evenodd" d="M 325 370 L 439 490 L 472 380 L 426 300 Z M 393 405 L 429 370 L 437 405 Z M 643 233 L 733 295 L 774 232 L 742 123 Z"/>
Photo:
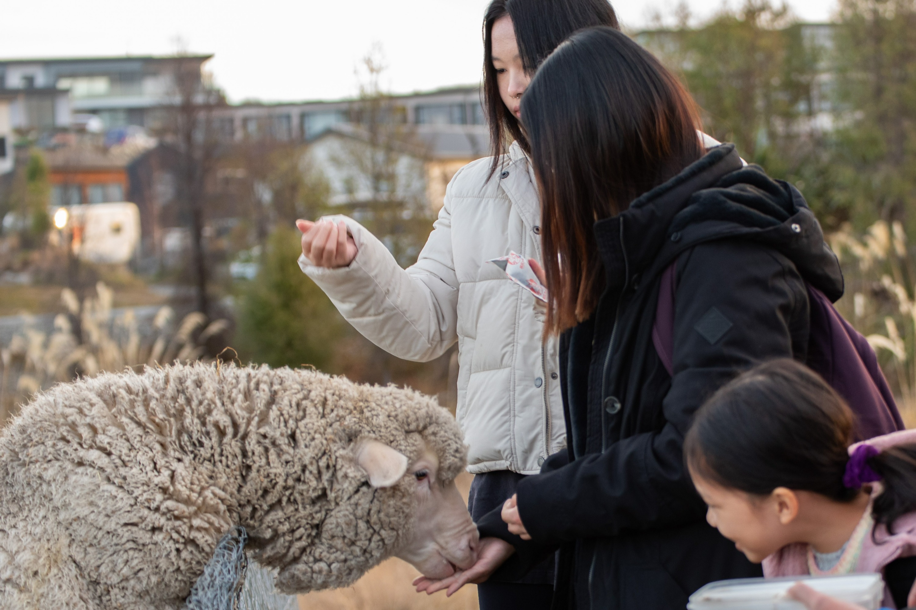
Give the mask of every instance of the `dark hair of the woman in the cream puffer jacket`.
<path id="1" fill-rule="evenodd" d="M 484 15 L 484 110 L 490 127 L 490 147 L 493 165 L 490 175 L 499 165 L 499 157 L 515 140 L 529 152 L 518 119 L 509 112 L 499 96 L 496 70 L 493 68 L 491 34 L 493 24 L 510 16 L 515 27 L 518 53 L 525 70 L 534 73 L 540 62 L 576 30 L 583 27 L 608 26 L 619 28 L 614 8 L 607 0 L 493 0 Z"/>

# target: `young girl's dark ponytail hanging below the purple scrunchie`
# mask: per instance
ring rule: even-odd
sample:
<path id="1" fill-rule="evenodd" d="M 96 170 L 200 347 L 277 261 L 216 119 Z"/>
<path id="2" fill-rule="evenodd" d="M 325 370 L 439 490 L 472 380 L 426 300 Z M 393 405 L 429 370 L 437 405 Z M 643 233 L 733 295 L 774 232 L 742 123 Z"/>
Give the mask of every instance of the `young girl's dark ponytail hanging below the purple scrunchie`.
<path id="1" fill-rule="evenodd" d="M 872 518 L 875 525 L 884 524 L 893 535 L 894 521 L 916 511 L 916 444 L 888 447 L 869 457 L 867 463 L 884 487 L 872 503 Z"/>

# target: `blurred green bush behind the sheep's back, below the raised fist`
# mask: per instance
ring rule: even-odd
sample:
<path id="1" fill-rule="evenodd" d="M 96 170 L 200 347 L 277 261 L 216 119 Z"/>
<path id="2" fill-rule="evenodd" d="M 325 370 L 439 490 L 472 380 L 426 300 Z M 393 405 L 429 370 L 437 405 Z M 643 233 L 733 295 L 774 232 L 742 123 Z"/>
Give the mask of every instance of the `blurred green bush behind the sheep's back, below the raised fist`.
<path id="1" fill-rule="evenodd" d="M 267 239 L 256 278 L 241 290 L 236 334 L 243 360 L 271 367 L 326 369 L 344 320 L 300 270 L 300 237 L 278 227 Z"/>

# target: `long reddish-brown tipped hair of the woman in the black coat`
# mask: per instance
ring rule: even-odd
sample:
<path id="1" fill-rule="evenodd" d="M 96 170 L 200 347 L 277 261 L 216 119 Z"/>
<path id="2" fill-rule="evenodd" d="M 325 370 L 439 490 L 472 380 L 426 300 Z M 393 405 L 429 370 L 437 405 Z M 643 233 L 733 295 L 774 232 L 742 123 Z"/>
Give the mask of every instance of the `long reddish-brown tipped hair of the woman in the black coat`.
<path id="1" fill-rule="evenodd" d="M 551 286 L 545 330 L 559 333 L 592 314 L 605 286 L 595 221 L 699 159 L 701 123 L 681 82 L 610 27 L 585 29 L 557 48 L 521 108 L 540 183 Z"/>

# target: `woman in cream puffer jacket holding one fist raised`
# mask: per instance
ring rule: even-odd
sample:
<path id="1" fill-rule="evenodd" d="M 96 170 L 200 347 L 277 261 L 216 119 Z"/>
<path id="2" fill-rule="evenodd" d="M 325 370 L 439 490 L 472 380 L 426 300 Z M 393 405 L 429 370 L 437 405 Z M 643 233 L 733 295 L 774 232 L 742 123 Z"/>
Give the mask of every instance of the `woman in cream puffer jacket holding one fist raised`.
<path id="1" fill-rule="evenodd" d="M 354 219 L 298 222 L 302 271 L 365 337 L 398 358 L 421 361 L 458 342 L 457 416 L 475 475 L 468 503 L 474 519 L 500 507 L 566 438 L 558 341 L 544 337 L 534 297 L 486 261 L 509 251 L 540 259 L 540 201 L 519 105 L 540 62 L 590 26 L 617 27 L 607 0 L 493 0 L 487 7 L 483 102 L 493 156 L 453 177 L 409 269 Z M 478 548 L 484 563 L 512 551 L 497 539 Z M 477 580 L 475 574 L 463 577 Z M 549 608 L 553 558 L 478 591 L 483 610 Z"/>

